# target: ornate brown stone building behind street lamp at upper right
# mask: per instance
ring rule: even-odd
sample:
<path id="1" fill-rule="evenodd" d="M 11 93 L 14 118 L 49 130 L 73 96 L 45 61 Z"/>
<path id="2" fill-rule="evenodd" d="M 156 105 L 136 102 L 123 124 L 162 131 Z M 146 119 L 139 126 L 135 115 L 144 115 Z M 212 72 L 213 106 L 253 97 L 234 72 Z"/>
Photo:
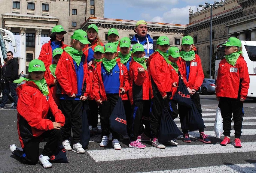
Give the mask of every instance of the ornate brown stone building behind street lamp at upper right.
<path id="1" fill-rule="evenodd" d="M 212 8 L 212 54 L 216 52 L 218 43 L 227 41 L 231 36 L 240 40 L 256 40 L 256 1 L 225 0 L 223 3 L 223 7 Z M 194 37 L 203 69 L 209 70 L 210 8 L 190 13 L 189 21 L 184 35 Z"/>

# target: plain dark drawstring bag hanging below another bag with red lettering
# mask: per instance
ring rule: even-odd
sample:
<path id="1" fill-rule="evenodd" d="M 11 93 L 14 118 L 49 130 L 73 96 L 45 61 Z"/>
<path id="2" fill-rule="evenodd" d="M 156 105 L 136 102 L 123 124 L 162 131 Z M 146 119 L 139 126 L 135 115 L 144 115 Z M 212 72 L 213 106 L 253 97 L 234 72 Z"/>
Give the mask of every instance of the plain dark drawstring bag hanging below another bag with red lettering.
<path id="1" fill-rule="evenodd" d="M 194 102 L 192 101 L 192 108 L 189 109 L 188 115 L 184 117 L 181 124 L 181 129 L 194 131 L 205 128 L 206 127 L 204 125 L 203 118 L 198 112 Z"/>

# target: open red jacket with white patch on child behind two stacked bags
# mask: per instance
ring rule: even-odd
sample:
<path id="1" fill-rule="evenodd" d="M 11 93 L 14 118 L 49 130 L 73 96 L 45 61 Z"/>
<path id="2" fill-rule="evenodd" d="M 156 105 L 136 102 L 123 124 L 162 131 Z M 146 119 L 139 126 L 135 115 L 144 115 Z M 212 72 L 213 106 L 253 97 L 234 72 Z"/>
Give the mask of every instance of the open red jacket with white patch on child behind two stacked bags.
<path id="1" fill-rule="evenodd" d="M 183 81 L 185 85 L 190 89 L 195 89 L 196 91 L 199 90 L 204 79 L 200 57 L 196 54 L 195 58 L 192 61 L 190 61 L 188 81 L 186 73 L 186 61 L 184 61 L 184 59 L 180 57 L 179 60 L 177 61 L 177 64 L 179 66 L 180 71 L 182 72 L 181 75 L 184 78 Z"/>

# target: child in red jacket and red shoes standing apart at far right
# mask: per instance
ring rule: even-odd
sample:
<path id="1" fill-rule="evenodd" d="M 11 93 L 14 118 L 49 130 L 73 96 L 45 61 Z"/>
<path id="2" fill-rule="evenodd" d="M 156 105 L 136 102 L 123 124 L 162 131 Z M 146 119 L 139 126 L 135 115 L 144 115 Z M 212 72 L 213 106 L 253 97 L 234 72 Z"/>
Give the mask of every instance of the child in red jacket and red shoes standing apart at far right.
<path id="1" fill-rule="evenodd" d="M 225 59 L 221 60 L 216 80 L 216 96 L 223 118 L 224 140 L 220 145 L 230 143 L 231 118 L 233 113 L 235 147 L 241 148 L 243 101 L 247 97 L 250 78 L 247 64 L 242 57 L 241 41 L 230 37 L 225 46 Z"/>

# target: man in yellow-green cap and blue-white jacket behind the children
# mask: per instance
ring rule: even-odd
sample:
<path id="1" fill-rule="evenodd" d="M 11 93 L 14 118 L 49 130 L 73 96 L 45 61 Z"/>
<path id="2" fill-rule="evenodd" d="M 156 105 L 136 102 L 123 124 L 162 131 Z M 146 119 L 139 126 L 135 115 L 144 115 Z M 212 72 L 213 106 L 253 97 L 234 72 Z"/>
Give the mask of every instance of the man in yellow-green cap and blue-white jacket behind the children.
<path id="1" fill-rule="evenodd" d="M 142 44 L 146 53 L 145 58 L 148 59 L 149 56 L 154 52 L 154 46 L 153 39 L 150 37 L 149 34 L 147 34 L 147 23 L 144 20 L 139 20 L 136 23 L 134 32 L 136 32 L 137 34 L 135 34 L 131 39 L 131 46 L 133 47 L 133 45 L 136 43 Z"/>

